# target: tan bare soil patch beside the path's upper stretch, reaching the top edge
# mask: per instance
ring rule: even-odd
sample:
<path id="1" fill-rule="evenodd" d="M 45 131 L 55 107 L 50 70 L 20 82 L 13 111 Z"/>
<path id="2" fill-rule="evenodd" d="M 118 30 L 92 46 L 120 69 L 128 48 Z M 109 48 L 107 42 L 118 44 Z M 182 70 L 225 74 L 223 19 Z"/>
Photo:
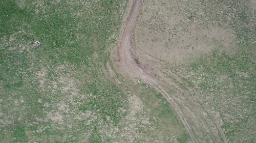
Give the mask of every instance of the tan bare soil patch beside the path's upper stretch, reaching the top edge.
<path id="1" fill-rule="evenodd" d="M 134 51 L 140 61 L 181 64 L 212 50 L 232 53 L 234 32 L 215 23 L 200 25 L 200 18 L 188 13 L 185 6 L 185 2 L 165 0 L 143 4 L 135 28 Z"/>

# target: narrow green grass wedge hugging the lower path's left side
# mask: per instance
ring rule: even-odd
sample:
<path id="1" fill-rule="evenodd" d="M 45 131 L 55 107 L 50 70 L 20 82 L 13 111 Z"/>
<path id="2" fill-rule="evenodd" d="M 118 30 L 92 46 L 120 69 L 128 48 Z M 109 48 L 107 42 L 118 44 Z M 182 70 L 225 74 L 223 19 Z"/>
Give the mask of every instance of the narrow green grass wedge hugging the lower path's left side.
<path id="1" fill-rule="evenodd" d="M 145 136 L 162 138 L 164 142 L 173 142 L 174 138 L 179 142 L 187 142 L 189 136 L 170 104 L 160 93 L 150 87 L 145 87 L 146 84 L 143 83 L 138 87 L 139 98 L 143 101 L 144 108 L 148 110 L 145 114 L 150 117 L 153 125 L 145 127 L 141 132 Z M 155 131 L 150 130 L 152 126 L 156 128 Z M 159 132 L 159 134 L 155 134 L 155 132 Z"/>

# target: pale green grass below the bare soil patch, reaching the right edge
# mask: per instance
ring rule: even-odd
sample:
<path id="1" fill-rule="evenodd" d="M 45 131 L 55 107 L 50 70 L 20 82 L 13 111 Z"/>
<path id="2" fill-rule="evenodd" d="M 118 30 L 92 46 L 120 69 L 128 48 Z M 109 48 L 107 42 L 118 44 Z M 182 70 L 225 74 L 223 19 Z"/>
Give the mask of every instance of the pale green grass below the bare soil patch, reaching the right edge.
<path id="1" fill-rule="evenodd" d="M 250 50 L 248 45 L 239 44 L 235 55 L 215 51 L 212 56 L 193 63 L 189 70 L 196 73 L 189 77 L 189 81 L 197 87 L 191 92 L 191 96 L 203 93 L 199 94 L 201 99 L 210 99 L 202 100 L 201 105 L 203 108 L 212 106 L 221 112 L 223 128 L 230 141 L 239 136 L 240 142 L 254 138 L 250 132 L 254 128 L 251 120 L 256 115 L 256 65 L 251 61 L 253 56 Z M 246 132 L 241 131 L 245 129 Z M 247 137 L 243 137 L 244 134 Z"/>

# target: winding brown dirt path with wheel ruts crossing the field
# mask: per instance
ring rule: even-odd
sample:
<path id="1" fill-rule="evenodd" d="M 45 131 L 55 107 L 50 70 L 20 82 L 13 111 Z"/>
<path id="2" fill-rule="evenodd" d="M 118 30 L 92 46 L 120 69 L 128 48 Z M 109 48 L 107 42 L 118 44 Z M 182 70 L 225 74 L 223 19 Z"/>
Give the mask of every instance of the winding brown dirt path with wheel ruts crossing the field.
<path id="1" fill-rule="evenodd" d="M 129 76 L 138 77 L 142 79 L 144 82 L 152 85 L 156 90 L 158 90 L 172 105 L 173 109 L 176 111 L 178 117 L 182 121 L 186 131 L 188 132 L 192 142 L 198 142 L 197 138 L 195 137 L 192 129 L 190 128 L 187 120 L 182 112 L 181 108 L 179 107 L 178 103 L 175 101 L 175 97 L 169 95 L 157 82 L 157 80 L 143 71 L 134 61 L 133 54 L 132 54 L 132 45 L 131 45 L 131 36 L 132 31 L 136 22 L 136 18 L 139 14 L 139 8 L 142 3 L 142 0 L 135 0 L 133 2 L 133 6 L 130 12 L 129 17 L 127 18 L 123 29 L 121 31 L 119 41 L 118 41 L 118 62 L 122 66 L 122 70 L 126 72 Z"/>

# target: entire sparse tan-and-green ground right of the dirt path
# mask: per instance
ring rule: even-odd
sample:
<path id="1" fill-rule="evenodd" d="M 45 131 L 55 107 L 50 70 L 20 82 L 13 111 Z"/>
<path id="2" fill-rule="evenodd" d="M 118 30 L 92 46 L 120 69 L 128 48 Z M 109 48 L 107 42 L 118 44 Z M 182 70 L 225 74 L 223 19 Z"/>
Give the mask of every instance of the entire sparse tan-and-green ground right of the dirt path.
<path id="1" fill-rule="evenodd" d="M 143 4 L 135 53 L 191 109 L 199 142 L 255 142 L 255 21 L 254 1 Z"/>

